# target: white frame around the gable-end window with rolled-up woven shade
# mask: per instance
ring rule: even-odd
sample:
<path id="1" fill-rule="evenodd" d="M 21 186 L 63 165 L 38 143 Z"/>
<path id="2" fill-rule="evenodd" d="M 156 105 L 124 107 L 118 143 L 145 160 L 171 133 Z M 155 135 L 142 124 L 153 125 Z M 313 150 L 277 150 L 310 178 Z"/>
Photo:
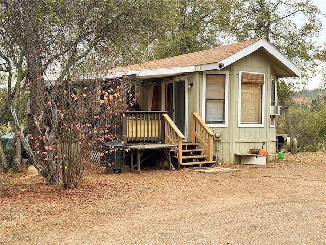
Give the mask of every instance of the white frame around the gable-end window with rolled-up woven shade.
<path id="1" fill-rule="evenodd" d="M 241 92 L 242 92 L 242 73 L 263 74 L 264 84 L 262 85 L 262 103 L 261 103 L 261 124 L 242 124 L 241 122 Z M 265 127 L 265 85 L 266 75 L 261 72 L 239 71 L 239 90 L 238 90 L 238 127 L 239 128 L 263 128 Z"/>

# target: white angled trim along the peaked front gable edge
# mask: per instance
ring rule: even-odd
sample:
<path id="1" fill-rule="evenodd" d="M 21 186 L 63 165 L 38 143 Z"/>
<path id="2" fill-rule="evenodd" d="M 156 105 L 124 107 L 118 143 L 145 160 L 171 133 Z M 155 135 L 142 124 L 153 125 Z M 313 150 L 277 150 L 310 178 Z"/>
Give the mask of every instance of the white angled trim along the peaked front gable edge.
<path id="1" fill-rule="evenodd" d="M 288 58 L 286 58 L 284 55 L 282 55 L 273 45 L 271 45 L 267 40 L 265 39 L 260 39 L 257 42 L 249 45 L 246 48 L 243 48 L 243 50 L 240 50 L 239 52 L 221 60 L 218 63 L 223 63 L 224 67 L 234 63 L 235 61 L 242 59 L 243 57 L 255 52 L 256 50 L 258 50 L 260 47 L 265 48 L 266 51 L 268 51 L 268 53 L 270 53 L 272 56 L 274 56 L 277 60 L 279 60 L 280 62 L 282 62 L 285 66 L 287 66 L 291 71 L 293 71 L 293 73 L 298 76 L 301 77 L 301 70 L 300 68 L 298 68 L 294 63 L 292 63 Z M 218 64 L 216 63 L 216 64 Z M 217 69 L 220 70 L 222 68 L 219 68 L 219 66 L 217 66 Z"/>

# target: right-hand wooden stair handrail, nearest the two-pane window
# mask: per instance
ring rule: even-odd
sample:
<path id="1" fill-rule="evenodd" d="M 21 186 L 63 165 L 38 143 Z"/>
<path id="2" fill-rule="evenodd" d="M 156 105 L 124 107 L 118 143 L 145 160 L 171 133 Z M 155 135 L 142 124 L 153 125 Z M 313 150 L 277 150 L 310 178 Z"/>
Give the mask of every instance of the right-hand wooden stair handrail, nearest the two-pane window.
<path id="1" fill-rule="evenodd" d="M 214 132 L 208 127 L 198 112 L 192 112 L 191 142 L 196 139 L 207 149 L 208 161 L 213 160 L 213 136 Z"/>

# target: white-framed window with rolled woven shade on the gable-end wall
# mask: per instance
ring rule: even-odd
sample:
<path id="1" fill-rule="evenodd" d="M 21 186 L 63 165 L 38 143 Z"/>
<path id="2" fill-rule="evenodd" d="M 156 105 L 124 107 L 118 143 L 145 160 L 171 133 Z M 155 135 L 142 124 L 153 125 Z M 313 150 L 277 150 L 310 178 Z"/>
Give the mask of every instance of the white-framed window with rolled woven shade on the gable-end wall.
<path id="1" fill-rule="evenodd" d="M 264 74 L 239 73 L 239 127 L 263 127 Z"/>

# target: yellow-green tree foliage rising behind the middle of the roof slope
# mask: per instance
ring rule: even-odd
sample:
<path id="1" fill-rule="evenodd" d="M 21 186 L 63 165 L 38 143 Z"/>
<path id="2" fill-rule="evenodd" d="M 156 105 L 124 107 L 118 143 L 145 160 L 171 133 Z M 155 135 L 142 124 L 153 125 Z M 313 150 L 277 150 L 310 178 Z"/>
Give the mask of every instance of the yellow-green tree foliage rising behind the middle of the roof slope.
<path id="1" fill-rule="evenodd" d="M 158 1 L 159 2 L 159 1 Z M 164 2 L 164 1 L 161 1 Z M 220 46 L 235 1 L 176 0 L 170 25 L 158 37 L 155 58 L 166 58 Z"/>

